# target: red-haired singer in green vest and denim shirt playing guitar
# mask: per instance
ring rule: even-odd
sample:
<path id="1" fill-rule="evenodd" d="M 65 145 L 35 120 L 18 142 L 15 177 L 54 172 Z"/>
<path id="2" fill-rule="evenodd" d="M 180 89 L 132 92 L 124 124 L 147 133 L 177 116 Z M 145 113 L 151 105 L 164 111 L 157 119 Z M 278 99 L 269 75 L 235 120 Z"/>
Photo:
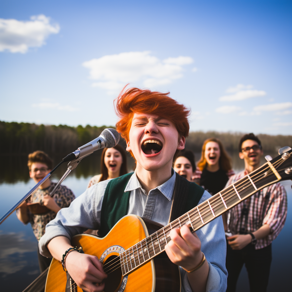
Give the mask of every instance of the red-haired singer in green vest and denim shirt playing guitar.
<path id="1" fill-rule="evenodd" d="M 101 218 L 102 210 L 105 211 L 102 206 L 110 204 L 108 198 L 122 200 L 128 206 L 121 209 L 121 205 L 115 205 L 115 211 L 122 213 L 121 217 L 136 214 L 165 226 L 173 214 L 172 210 L 178 206 L 172 206 L 173 197 L 178 194 L 175 186 L 182 180 L 194 190 L 188 195 L 188 202 L 194 202 L 196 197 L 200 204 L 210 197 L 208 192 L 180 177 L 172 168 L 173 157 L 184 149 L 189 132 L 187 118 L 190 111 L 184 105 L 170 98 L 168 93 L 130 88 L 117 98 L 116 113 L 120 118 L 116 124 L 117 131 L 126 140 L 126 150 L 136 159 L 135 172 L 93 185 L 69 208 L 59 211 L 55 220 L 46 226 L 46 233 L 39 243 L 44 256 L 53 256 L 61 261 L 65 251 L 72 248 L 72 236 L 88 228 L 111 228 L 115 220 L 110 220 L 110 223 Z M 117 194 L 112 189 L 121 189 L 121 192 Z M 190 203 L 186 208 L 189 210 L 195 205 Z M 169 259 L 180 266 L 181 291 L 226 290 L 226 241 L 221 216 L 195 233 L 190 232 L 190 225 L 173 229 L 170 237 L 165 251 Z M 206 261 L 203 260 L 204 255 Z M 84 291 L 104 290 L 102 281 L 107 275 L 96 256 L 71 251 L 65 257 L 65 268 Z M 139 291 L 143 291 L 143 287 Z"/>

